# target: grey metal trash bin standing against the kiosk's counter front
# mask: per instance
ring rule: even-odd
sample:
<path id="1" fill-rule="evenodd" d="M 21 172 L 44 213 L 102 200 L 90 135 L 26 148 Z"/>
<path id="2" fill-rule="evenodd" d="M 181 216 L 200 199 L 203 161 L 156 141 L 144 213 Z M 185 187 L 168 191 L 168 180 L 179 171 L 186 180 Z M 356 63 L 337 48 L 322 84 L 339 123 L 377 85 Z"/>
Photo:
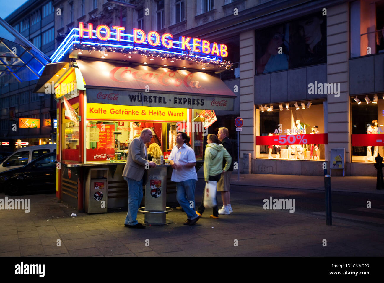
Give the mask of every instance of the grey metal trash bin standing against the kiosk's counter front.
<path id="1" fill-rule="evenodd" d="M 108 209 L 108 169 L 89 169 L 85 186 L 86 213 L 106 213 Z"/>

